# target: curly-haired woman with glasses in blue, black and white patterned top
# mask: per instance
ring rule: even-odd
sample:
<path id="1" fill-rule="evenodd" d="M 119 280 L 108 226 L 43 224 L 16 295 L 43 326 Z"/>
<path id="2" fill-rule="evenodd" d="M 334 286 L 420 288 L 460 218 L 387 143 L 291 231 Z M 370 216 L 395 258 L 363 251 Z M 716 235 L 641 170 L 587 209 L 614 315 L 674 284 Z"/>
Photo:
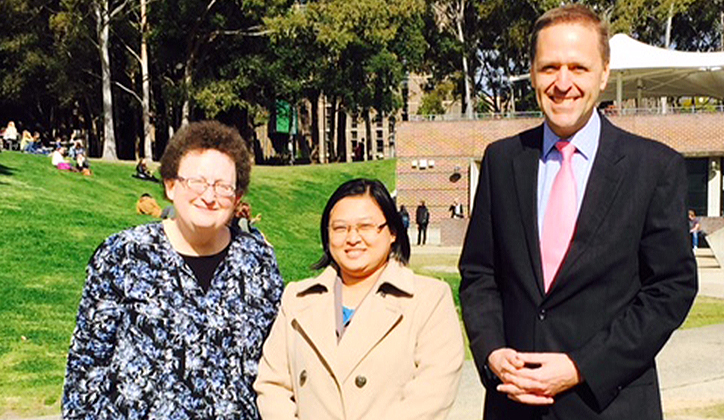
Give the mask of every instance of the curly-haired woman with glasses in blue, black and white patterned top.
<path id="1" fill-rule="evenodd" d="M 252 384 L 282 279 L 228 227 L 251 156 L 217 122 L 179 130 L 160 173 L 176 217 L 108 238 L 88 264 L 64 419 L 257 419 Z"/>

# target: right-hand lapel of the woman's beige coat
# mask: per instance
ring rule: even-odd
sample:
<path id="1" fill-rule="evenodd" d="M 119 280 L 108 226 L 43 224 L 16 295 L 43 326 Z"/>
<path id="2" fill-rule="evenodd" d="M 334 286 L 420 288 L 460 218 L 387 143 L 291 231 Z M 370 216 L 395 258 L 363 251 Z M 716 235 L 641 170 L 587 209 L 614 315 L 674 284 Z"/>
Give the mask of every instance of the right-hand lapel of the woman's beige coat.
<path id="1" fill-rule="evenodd" d="M 398 298 L 381 292 L 382 285 L 390 283 L 403 292 L 411 292 L 412 276 L 412 271 L 390 261 L 370 295 L 357 308 L 339 342 L 337 378 L 340 382 L 346 381 L 365 356 L 402 320 L 402 307 Z M 397 287 L 401 283 L 404 286 Z"/>

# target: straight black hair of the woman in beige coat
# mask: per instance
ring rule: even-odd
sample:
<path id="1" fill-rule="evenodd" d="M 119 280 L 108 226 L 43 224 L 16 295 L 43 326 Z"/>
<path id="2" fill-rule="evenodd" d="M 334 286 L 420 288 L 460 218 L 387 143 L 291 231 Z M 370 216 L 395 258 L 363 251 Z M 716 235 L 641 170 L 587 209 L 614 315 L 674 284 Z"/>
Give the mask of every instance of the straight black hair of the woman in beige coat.
<path id="1" fill-rule="evenodd" d="M 324 206 L 322 222 L 320 224 L 324 255 L 312 265 L 312 269 L 318 270 L 330 264 L 338 268 L 332 259 L 332 254 L 329 252 L 329 215 L 332 213 L 334 205 L 343 198 L 362 195 L 368 195 L 380 206 L 382 214 L 385 215 L 387 227 L 390 229 L 390 232 L 395 235 L 395 242 L 392 243 L 390 249 L 390 257 L 396 259 L 403 265 L 407 265 L 410 261 L 410 238 L 407 237 L 407 230 L 402 224 L 402 217 L 400 213 L 397 212 L 397 206 L 395 206 L 395 202 L 392 200 L 389 191 L 387 191 L 387 188 L 385 188 L 382 182 L 376 179 L 357 178 L 340 185 L 337 190 L 332 193 L 329 201 L 327 201 L 327 204 Z"/>

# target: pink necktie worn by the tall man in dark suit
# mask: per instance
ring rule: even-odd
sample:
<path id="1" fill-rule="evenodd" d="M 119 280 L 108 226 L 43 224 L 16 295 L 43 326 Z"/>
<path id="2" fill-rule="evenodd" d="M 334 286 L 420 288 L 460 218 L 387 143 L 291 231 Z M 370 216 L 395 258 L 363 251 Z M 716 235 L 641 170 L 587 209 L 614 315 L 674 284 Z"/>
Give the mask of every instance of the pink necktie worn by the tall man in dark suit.
<path id="1" fill-rule="evenodd" d="M 543 219 L 543 237 L 541 238 L 541 257 L 543 259 L 543 282 L 546 293 L 551 288 L 568 246 L 573 238 L 576 226 L 576 179 L 573 176 L 573 154 L 576 146 L 567 141 L 559 141 L 556 148 L 561 152 L 561 168 L 553 180 L 548 196 L 548 207 Z"/>

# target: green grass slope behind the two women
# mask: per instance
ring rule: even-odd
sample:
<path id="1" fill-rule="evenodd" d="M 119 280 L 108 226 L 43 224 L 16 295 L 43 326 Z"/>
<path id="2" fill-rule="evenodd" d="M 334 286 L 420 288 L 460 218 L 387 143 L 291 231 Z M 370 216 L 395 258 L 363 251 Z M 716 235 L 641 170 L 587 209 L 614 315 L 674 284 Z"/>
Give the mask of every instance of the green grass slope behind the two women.
<path id="1" fill-rule="evenodd" d="M 373 177 L 395 188 L 394 161 L 255 167 L 247 201 L 275 246 L 285 280 L 321 255 L 319 218 L 342 182 Z M 92 177 L 56 170 L 50 159 L 0 153 L 0 417 L 58 413 L 65 358 L 85 265 L 100 242 L 153 221 L 135 214 L 144 192 L 167 204 L 158 184 L 129 164 L 93 162 Z"/>

